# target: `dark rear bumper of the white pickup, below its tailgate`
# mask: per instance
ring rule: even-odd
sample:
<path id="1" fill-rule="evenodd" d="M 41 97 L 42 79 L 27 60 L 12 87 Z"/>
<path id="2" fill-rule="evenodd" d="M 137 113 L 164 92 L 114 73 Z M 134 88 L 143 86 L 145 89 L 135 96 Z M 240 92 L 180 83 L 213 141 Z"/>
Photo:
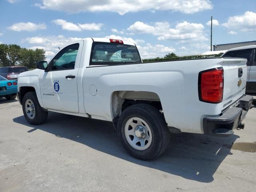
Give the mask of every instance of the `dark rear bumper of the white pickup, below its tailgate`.
<path id="1" fill-rule="evenodd" d="M 238 107 L 230 107 L 218 117 L 205 117 L 203 127 L 205 134 L 215 134 L 220 130 L 234 130 L 244 120 L 252 105 L 253 97 L 245 95 L 238 101 Z"/>

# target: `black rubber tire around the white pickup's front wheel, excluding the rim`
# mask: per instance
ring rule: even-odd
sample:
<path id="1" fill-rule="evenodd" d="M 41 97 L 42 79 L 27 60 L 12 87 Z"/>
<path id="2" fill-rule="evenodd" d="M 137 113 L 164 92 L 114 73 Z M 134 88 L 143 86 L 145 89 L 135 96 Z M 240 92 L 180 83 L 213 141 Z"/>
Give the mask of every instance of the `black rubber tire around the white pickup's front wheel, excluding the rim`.
<path id="1" fill-rule="evenodd" d="M 28 99 L 34 103 L 35 115 L 33 119 L 30 119 L 28 117 L 28 114 L 26 113 L 26 110 L 25 110 L 25 103 Z M 47 120 L 48 112 L 44 111 L 40 106 L 36 96 L 36 92 L 27 92 L 24 95 L 24 98 L 22 100 L 22 110 L 26 120 L 32 125 L 39 125 L 46 122 Z"/>

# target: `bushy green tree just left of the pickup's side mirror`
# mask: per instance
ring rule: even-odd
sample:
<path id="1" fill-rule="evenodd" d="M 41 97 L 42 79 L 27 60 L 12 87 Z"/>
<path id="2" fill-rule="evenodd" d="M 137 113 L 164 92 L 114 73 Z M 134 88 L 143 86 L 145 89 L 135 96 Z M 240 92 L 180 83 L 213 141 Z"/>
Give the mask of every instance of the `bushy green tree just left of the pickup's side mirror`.
<path id="1" fill-rule="evenodd" d="M 19 52 L 20 65 L 29 69 L 36 68 L 36 62 L 45 60 L 45 51 L 43 49 L 26 49 L 22 48 Z"/>

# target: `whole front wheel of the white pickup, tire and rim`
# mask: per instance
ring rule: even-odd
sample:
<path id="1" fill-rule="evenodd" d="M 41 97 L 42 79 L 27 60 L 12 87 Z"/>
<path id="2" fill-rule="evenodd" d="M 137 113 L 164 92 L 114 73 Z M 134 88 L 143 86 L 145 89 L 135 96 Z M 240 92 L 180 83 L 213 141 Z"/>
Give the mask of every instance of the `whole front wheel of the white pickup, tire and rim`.
<path id="1" fill-rule="evenodd" d="M 26 120 L 32 125 L 46 122 L 48 112 L 40 106 L 36 92 L 28 92 L 22 100 L 22 110 Z"/>

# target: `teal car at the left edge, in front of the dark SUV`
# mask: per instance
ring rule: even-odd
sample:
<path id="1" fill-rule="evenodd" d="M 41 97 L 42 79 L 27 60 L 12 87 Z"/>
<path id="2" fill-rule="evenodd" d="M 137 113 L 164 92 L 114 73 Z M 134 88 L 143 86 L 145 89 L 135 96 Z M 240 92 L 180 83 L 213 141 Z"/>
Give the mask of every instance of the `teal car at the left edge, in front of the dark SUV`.
<path id="1" fill-rule="evenodd" d="M 18 92 L 17 87 L 17 81 L 0 76 L 0 98 L 5 97 L 7 100 L 14 100 Z"/>

